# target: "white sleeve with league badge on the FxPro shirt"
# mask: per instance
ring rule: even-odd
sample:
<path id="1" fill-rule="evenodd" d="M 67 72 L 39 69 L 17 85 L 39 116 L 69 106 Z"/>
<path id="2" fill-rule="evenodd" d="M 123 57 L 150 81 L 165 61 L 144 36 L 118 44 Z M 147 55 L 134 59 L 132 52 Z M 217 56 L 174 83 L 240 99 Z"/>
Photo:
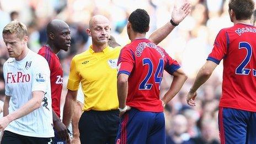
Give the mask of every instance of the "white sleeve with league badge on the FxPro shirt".
<path id="1" fill-rule="evenodd" d="M 46 92 L 47 84 L 50 84 L 50 68 L 47 61 L 38 57 L 37 61 L 32 61 L 36 63 L 31 63 L 33 65 L 33 70 L 31 74 L 32 89 L 34 91 Z"/>

